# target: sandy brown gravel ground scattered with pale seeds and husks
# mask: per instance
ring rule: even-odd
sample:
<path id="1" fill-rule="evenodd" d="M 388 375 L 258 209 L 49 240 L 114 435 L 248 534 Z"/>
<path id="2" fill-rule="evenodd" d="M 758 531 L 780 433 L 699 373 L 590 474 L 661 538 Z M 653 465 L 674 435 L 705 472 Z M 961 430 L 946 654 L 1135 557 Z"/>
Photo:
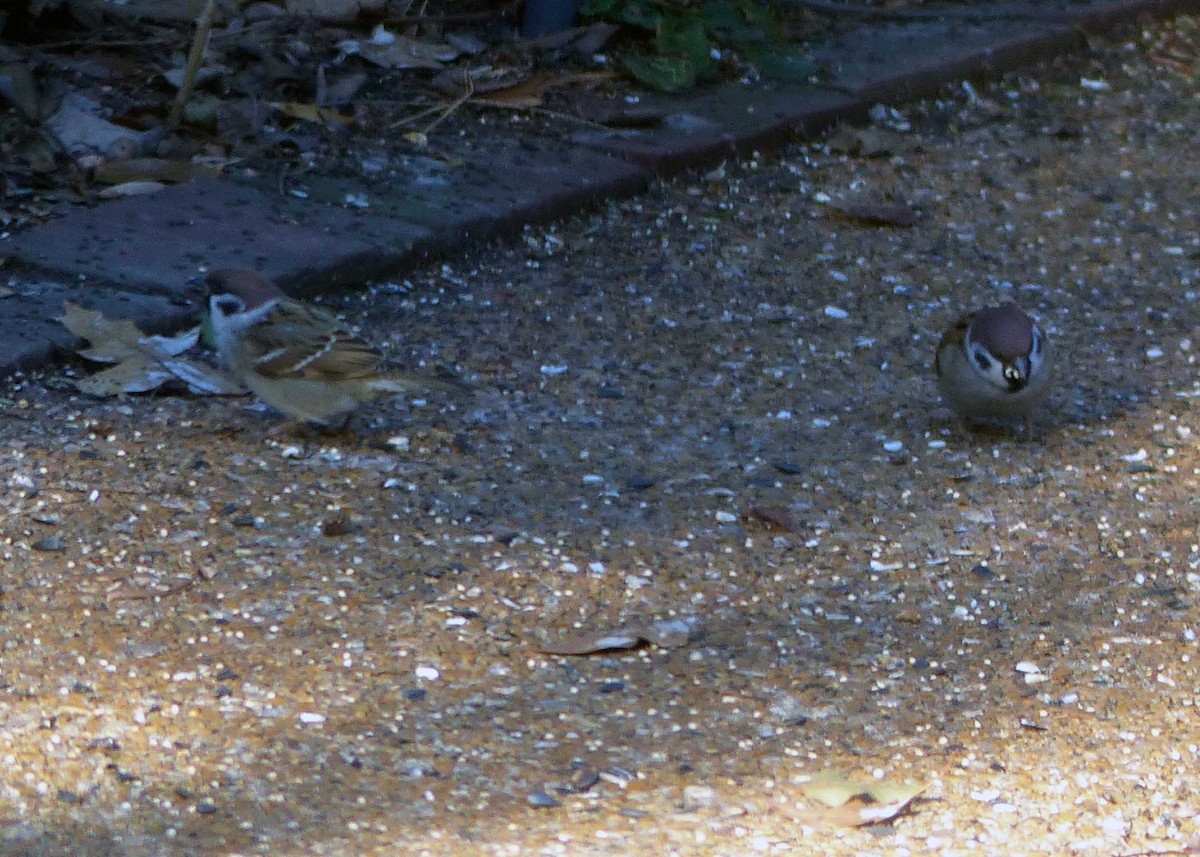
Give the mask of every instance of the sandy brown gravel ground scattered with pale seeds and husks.
<path id="1" fill-rule="evenodd" d="M 892 155 L 728 163 L 336 302 L 476 390 L 356 438 L 17 379 L 0 853 L 1188 852 L 1198 46 L 1129 32 L 881 112 Z M 863 200 L 920 220 L 832 216 Z M 1060 368 L 1033 442 L 934 389 L 1003 300 Z M 541 651 L 630 627 L 677 633 Z M 853 827 L 829 779 L 923 791 Z"/>

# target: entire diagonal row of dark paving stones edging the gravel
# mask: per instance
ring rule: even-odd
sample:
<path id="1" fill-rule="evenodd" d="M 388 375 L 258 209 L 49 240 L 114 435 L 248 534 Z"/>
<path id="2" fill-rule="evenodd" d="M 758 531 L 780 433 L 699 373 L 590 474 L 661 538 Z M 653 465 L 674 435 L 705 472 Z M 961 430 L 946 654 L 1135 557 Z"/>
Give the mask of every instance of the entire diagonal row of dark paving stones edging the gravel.
<path id="1" fill-rule="evenodd" d="M 769 152 L 858 120 L 876 102 L 1078 49 L 1085 31 L 1184 11 L 1200 11 L 1200 0 L 958 5 L 905 10 L 902 19 L 871 12 L 812 47 L 829 72 L 824 89 L 760 83 L 650 95 L 647 104 L 665 116 L 659 126 L 581 131 L 570 142 L 523 137 L 502 120 L 494 133 L 438 139 L 437 150 L 388 164 L 367 185 L 305 176 L 283 193 L 274 178 L 199 179 L 71 209 L 0 241 L 10 262 L 64 281 L 38 289 L 22 281 L 0 299 L 0 368 L 48 359 L 67 342 L 48 320 L 67 296 L 143 326 L 172 326 L 198 308 L 205 266 L 253 268 L 299 293 L 395 275 L 425 253 L 640 192 L 652 174 Z"/>

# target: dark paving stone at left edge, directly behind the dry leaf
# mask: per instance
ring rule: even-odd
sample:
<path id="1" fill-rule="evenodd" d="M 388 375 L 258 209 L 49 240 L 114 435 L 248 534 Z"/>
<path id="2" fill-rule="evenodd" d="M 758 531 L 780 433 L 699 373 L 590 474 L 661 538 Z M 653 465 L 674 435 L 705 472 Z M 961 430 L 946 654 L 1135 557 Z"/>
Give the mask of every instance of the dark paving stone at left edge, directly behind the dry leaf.
<path id="1" fill-rule="evenodd" d="M 59 349 L 73 348 L 74 336 L 58 318 L 71 300 L 110 318 L 133 318 L 146 331 L 179 329 L 197 310 L 164 295 L 134 294 L 100 283 L 10 280 L 0 298 L 0 376 L 48 362 Z"/>

